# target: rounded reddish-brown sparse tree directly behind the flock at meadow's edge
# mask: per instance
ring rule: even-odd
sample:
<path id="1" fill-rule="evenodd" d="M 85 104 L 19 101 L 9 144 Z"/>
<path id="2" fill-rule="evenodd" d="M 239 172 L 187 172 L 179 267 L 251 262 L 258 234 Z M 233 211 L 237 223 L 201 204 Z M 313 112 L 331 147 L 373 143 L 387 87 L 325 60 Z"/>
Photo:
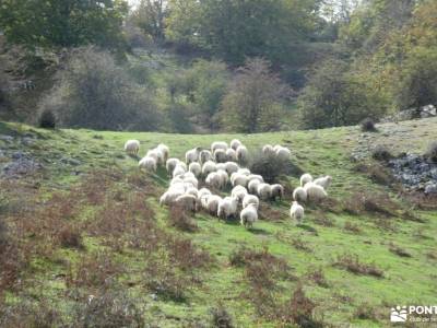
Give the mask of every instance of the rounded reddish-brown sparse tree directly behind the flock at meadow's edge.
<path id="1" fill-rule="evenodd" d="M 287 87 L 270 72 L 268 61 L 248 59 L 237 70 L 222 103 L 222 127 L 237 132 L 261 132 L 277 128 Z"/>

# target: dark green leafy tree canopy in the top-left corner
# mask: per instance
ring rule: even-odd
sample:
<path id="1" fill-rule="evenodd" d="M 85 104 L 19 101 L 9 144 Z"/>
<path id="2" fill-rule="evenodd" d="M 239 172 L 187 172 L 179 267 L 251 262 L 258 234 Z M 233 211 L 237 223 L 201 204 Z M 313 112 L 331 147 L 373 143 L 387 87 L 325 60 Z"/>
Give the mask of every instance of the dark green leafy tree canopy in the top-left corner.
<path id="1" fill-rule="evenodd" d="M 125 0 L 2 0 L 0 28 L 11 43 L 28 47 L 118 48 L 127 10 Z"/>

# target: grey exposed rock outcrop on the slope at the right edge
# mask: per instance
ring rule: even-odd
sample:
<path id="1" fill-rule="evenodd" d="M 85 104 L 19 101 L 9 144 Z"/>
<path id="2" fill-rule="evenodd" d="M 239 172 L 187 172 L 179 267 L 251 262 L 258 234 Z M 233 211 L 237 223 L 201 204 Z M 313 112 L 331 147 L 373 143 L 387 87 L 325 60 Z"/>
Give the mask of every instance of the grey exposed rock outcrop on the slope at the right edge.
<path id="1" fill-rule="evenodd" d="M 404 154 L 389 161 L 394 178 L 406 189 L 437 195 L 437 164 L 416 154 Z"/>

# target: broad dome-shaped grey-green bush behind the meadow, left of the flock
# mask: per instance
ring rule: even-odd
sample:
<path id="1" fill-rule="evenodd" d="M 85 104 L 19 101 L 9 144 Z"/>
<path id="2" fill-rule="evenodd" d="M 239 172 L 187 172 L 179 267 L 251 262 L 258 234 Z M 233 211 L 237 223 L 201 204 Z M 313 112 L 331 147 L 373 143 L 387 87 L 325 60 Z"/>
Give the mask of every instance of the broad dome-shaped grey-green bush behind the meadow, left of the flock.
<path id="1" fill-rule="evenodd" d="M 156 130 L 160 116 L 150 92 L 93 47 L 72 50 L 59 83 L 39 103 L 62 126 L 91 129 Z"/>

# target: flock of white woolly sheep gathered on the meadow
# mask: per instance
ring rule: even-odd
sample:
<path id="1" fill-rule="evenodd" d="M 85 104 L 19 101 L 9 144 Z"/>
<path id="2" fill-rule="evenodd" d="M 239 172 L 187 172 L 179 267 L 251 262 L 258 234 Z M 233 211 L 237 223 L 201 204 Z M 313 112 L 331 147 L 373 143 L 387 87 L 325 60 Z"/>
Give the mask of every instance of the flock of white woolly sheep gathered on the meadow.
<path id="1" fill-rule="evenodd" d="M 140 150 L 138 140 L 128 140 L 125 151 L 137 155 Z M 290 159 L 291 151 L 282 145 L 265 144 L 262 152 L 282 159 Z M 186 152 L 185 162 L 169 157 L 169 149 L 161 143 L 149 150 L 140 160 L 139 167 L 147 172 L 156 172 L 157 166 L 166 167 L 172 177 L 168 189 L 160 199 L 161 206 L 179 206 L 188 211 L 198 211 L 203 208 L 212 215 L 228 219 L 236 218 L 239 208 L 241 225 L 251 227 L 258 220 L 260 200 L 282 199 L 284 187 L 264 183 L 261 175 L 252 174 L 246 167 L 249 161 L 248 149 L 237 139 L 231 144 L 215 141 L 211 150 L 194 148 Z M 208 187 L 199 189 L 199 179 L 204 179 Z M 300 187 L 293 191 L 294 201 L 290 214 L 292 219 L 302 223 L 304 208 L 299 202 L 317 202 L 327 197 L 331 176 L 312 179 L 311 175 L 300 177 Z M 231 184 L 231 196 L 222 198 L 211 190 L 223 190 Z M 210 190 L 210 189 L 211 190 Z"/>

